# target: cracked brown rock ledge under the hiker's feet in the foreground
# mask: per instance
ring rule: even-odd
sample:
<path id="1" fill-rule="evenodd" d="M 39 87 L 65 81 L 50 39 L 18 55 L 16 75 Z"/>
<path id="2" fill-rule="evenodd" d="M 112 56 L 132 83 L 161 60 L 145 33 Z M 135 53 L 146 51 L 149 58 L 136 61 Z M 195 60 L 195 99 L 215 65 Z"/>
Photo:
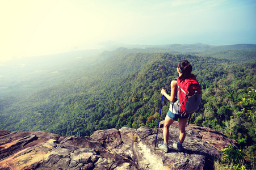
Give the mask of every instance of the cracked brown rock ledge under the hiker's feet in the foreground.
<path id="1" fill-rule="evenodd" d="M 169 151 L 156 147 L 157 129 L 98 130 L 91 137 L 64 137 L 43 131 L 0 130 L 2 169 L 213 169 L 220 150 L 237 145 L 219 131 L 189 125 L 184 151 L 171 147 L 178 141 L 178 123 L 170 126 Z M 161 127 L 161 124 L 160 124 Z M 158 131 L 157 145 L 163 139 Z"/>

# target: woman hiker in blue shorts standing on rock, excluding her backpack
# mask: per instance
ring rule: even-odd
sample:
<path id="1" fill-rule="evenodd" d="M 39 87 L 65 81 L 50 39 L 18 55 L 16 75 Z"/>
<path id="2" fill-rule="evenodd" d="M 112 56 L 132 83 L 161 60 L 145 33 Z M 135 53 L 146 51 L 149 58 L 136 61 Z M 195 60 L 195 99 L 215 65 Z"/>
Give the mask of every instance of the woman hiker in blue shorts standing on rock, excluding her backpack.
<path id="1" fill-rule="evenodd" d="M 177 66 L 177 72 L 179 73 L 179 78 L 186 79 L 188 77 L 194 76 L 191 74 L 191 71 L 192 71 L 192 66 L 190 65 L 190 62 L 188 62 L 187 60 L 182 60 L 181 62 L 179 62 L 179 65 Z M 170 109 L 166 114 L 165 124 L 163 125 L 163 141 L 158 145 L 158 148 L 160 148 L 165 152 L 167 152 L 169 149 L 169 146 L 168 146 L 168 139 L 170 135 L 169 127 L 171 124 L 173 124 L 174 121 L 178 121 L 179 119 L 179 141 L 178 143 L 173 144 L 173 147 L 178 148 L 179 152 L 183 150 L 182 143 L 184 142 L 184 139 L 186 137 L 185 128 L 186 128 L 189 114 L 185 114 L 183 116 L 178 112 L 174 112 L 174 113 L 171 112 L 173 111 L 173 104 L 177 100 L 177 93 L 178 93 L 177 80 L 171 81 L 171 95 L 168 95 L 165 89 L 161 90 L 161 94 L 171 101 Z"/>

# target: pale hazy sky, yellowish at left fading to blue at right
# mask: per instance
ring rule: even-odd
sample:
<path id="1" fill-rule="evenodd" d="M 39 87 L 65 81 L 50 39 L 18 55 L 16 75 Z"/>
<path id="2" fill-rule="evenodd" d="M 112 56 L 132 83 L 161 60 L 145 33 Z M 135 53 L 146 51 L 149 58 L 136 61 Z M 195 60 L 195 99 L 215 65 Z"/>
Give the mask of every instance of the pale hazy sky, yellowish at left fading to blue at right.
<path id="1" fill-rule="evenodd" d="M 256 44 L 255 0 L 0 0 L 0 61 L 126 44 Z"/>

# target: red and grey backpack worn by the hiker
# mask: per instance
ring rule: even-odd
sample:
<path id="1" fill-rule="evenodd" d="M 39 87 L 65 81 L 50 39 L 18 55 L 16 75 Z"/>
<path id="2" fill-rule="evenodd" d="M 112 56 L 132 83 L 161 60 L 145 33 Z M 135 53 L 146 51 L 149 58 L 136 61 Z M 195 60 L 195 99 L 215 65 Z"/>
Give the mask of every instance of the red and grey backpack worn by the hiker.
<path id="1" fill-rule="evenodd" d="M 181 114 L 191 114 L 199 110 L 199 105 L 201 104 L 201 87 L 194 74 L 186 76 L 186 78 L 177 79 L 178 84 L 178 99 L 179 103 L 179 113 Z"/>

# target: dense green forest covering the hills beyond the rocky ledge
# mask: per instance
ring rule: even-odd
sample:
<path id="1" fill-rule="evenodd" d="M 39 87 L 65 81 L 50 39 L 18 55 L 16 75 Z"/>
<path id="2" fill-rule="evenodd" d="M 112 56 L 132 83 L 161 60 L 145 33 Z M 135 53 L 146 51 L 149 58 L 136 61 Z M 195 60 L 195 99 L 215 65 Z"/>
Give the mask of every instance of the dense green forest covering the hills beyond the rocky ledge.
<path id="1" fill-rule="evenodd" d="M 31 90 L 33 85 L 16 84 L 3 90 L 0 129 L 83 137 L 123 126 L 157 128 L 161 88 L 170 92 L 182 59 L 191 63 L 203 91 L 200 110 L 192 114 L 190 124 L 219 130 L 236 139 L 246 154 L 256 156 L 255 46 L 191 53 L 157 48 L 105 51 L 90 61 L 90 67 L 73 63 L 75 71 L 72 67 L 59 79 L 48 78 L 54 83 L 47 87 Z M 169 105 L 163 100 L 161 120 Z"/>

